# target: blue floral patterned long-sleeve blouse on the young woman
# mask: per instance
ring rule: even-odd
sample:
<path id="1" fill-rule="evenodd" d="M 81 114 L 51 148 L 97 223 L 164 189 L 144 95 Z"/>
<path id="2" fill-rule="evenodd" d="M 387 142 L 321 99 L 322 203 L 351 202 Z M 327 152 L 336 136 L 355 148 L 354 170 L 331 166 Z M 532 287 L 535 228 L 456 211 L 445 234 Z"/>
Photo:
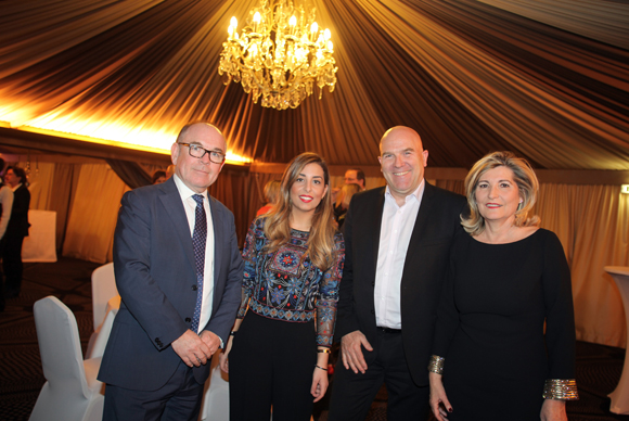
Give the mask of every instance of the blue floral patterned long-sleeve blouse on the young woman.
<path id="1" fill-rule="evenodd" d="M 268 242 L 266 218 L 252 222 L 243 250 L 245 263 L 242 302 L 238 317 L 249 310 L 282 321 L 308 322 L 316 319 L 317 345 L 330 347 L 336 323 L 338 283 L 345 260 L 343 234 L 334 235 L 336 261 L 325 270 L 304 258 L 309 232 L 291 230 L 291 240 L 274 253 L 264 253 Z"/>

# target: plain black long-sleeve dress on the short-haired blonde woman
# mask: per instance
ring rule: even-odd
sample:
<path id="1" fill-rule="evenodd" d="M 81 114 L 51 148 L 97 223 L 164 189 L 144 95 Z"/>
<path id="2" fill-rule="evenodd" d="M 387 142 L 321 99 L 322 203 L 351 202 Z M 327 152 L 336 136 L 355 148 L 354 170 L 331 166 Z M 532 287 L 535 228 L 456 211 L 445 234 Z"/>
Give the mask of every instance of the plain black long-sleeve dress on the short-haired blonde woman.
<path id="1" fill-rule="evenodd" d="M 539 420 L 544 382 L 575 378 L 570 273 L 557 237 L 539 229 L 486 244 L 461 234 L 436 329 L 449 420 Z"/>

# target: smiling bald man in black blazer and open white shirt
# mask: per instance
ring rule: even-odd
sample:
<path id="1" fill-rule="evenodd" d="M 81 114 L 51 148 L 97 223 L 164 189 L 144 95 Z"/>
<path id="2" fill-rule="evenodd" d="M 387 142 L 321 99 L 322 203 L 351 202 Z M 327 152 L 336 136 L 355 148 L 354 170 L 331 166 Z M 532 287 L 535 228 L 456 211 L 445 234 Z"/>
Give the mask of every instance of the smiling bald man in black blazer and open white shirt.
<path id="1" fill-rule="evenodd" d="M 424 180 L 428 151 L 416 131 L 394 127 L 380 150 L 387 186 L 355 195 L 344 227 L 332 421 L 364 420 L 383 383 L 389 421 L 426 419 L 436 307 L 465 208 Z"/>

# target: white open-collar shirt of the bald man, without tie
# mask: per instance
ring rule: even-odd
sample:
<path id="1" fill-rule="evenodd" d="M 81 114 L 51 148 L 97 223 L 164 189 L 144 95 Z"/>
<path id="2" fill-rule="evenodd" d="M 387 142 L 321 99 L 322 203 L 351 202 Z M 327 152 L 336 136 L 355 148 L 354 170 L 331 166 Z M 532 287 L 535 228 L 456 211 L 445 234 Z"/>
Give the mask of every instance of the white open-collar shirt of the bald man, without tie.
<path id="1" fill-rule="evenodd" d="M 398 206 L 388 186 L 384 193 L 384 209 L 380 231 L 377 267 L 375 270 L 375 322 L 381 328 L 401 329 L 401 282 L 405 260 L 418 212 L 424 196 L 425 181 L 406 196 Z"/>

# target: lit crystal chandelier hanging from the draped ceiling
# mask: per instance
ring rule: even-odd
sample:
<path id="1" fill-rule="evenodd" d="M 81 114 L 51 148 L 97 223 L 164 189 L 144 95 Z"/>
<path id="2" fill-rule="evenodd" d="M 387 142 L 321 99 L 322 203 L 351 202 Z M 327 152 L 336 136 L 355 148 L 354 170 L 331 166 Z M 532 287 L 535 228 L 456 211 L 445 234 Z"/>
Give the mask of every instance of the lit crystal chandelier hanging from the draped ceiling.
<path id="1" fill-rule="evenodd" d="M 241 82 L 254 103 L 278 110 L 296 109 L 319 87 L 330 92 L 336 84 L 330 29 L 319 30 L 316 9 L 306 13 L 291 0 L 262 0 L 249 12 L 241 36 L 231 18 L 228 39 L 222 43 L 219 75 L 224 85 Z"/>

